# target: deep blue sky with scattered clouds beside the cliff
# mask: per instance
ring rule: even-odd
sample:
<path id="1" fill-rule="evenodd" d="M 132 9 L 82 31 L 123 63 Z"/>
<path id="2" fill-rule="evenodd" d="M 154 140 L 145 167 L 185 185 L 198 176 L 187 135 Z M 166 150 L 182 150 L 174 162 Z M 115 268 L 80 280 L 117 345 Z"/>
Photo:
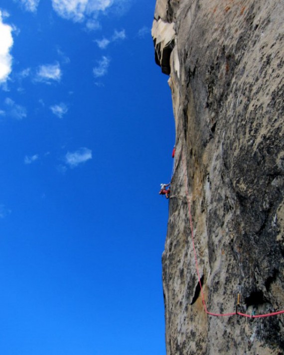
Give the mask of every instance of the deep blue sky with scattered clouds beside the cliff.
<path id="1" fill-rule="evenodd" d="M 0 354 L 165 354 L 154 6 L 1 1 Z"/>

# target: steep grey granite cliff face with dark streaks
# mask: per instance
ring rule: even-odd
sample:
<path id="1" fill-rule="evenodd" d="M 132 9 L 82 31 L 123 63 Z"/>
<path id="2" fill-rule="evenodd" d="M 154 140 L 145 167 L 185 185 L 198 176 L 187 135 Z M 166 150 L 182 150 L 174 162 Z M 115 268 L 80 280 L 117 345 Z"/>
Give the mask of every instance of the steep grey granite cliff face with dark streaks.
<path id="1" fill-rule="evenodd" d="M 284 310 L 284 1 L 157 0 L 152 35 L 176 124 L 167 355 L 284 354 L 284 315 L 204 312 L 186 199 L 207 309 Z"/>

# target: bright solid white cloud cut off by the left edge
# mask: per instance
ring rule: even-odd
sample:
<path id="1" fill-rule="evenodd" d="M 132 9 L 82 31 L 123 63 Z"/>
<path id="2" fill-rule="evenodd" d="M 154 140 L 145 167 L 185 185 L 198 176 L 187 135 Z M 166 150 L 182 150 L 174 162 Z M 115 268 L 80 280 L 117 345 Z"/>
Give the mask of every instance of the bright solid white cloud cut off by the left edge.
<path id="1" fill-rule="evenodd" d="M 12 27 L 3 23 L 6 13 L 0 10 L 0 84 L 5 83 L 12 71 L 12 56 L 10 50 L 13 45 Z"/>

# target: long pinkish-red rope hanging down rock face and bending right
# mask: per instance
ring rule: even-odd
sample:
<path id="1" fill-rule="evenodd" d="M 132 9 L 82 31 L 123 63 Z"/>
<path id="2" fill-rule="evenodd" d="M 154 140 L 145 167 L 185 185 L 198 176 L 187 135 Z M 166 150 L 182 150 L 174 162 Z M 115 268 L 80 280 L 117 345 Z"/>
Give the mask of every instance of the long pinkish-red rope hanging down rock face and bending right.
<path id="1" fill-rule="evenodd" d="M 185 185 L 185 193 L 186 193 L 187 206 L 188 206 L 188 215 L 189 215 L 189 224 L 190 224 L 190 230 L 191 230 L 192 247 L 193 247 L 196 273 L 197 273 L 198 282 L 199 282 L 199 286 L 200 286 L 200 292 L 201 292 L 201 298 L 202 298 L 204 311 L 206 312 L 206 314 L 208 314 L 210 316 L 214 316 L 214 317 L 231 317 L 231 316 L 239 315 L 239 316 L 247 317 L 247 318 L 265 318 L 265 317 L 276 316 L 278 314 L 283 314 L 284 310 L 278 311 L 278 312 L 273 312 L 273 313 L 267 313 L 267 314 L 259 314 L 259 315 L 249 315 L 249 314 L 241 313 L 241 312 L 237 311 L 237 308 L 236 308 L 236 312 L 223 313 L 223 314 L 212 313 L 207 310 L 205 298 L 204 298 L 204 292 L 203 292 L 202 283 L 201 283 L 201 278 L 200 278 L 200 273 L 199 273 L 197 253 L 196 253 L 196 248 L 195 248 L 195 243 L 194 243 L 193 223 L 192 223 L 192 216 L 191 216 L 191 203 L 190 203 L 189 192 L 188 192 L 187 169 L 186 169 L 186 164 L 185 164 L 184 157 L 183 157 L 182 153 L 181 153 L 181 157 L 182 157 L 182 164 L 184 167 L 184 180 L 185 180 L 184 185 Z"/>

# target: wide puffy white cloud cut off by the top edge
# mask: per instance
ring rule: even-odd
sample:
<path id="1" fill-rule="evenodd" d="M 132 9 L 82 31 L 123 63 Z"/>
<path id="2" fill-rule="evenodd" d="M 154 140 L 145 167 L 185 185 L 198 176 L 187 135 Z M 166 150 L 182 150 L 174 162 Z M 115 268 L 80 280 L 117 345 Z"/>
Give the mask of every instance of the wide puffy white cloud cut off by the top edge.
<path id="1" fill-rule="evenodd" d="M 52 7 L 61 17 L 81 22 L 105 11 L 115 0 L 52 0 Z"/>

